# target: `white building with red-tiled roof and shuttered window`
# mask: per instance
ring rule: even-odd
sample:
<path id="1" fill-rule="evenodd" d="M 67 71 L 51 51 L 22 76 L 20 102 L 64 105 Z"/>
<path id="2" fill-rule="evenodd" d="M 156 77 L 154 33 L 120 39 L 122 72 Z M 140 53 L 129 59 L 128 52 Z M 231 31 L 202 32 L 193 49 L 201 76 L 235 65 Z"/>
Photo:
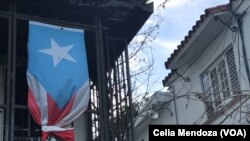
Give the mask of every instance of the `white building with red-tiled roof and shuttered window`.
<path id="1" fill-rule="evenodd" d="M 169 110 L 143 126 L 250 123 L 249 7 L 230 0 L 205 10 L 165 63 L 170 99 L 162 106 Z M 136 132 L 147 141 L 148 129 Z"/>

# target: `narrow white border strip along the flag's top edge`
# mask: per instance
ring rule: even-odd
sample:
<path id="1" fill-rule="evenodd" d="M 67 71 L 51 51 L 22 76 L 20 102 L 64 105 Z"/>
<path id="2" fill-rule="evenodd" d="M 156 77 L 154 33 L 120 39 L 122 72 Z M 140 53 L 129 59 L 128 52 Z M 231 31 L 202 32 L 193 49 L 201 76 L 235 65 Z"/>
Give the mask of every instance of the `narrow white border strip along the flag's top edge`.
<path id="1" fill-rule="evenodd" d="M 62 29 L 63 29 L 63 30 L 72 31 L 72 32 L 80 32 L 80 33 L 83 33 L 83 32 L 84 32 L 82 29 L 62 27 L 62 26 L 51 25 L 51 24 L 45 24 L 45 23 L 40 23 L 40 22 L 35 22 L 35 21 L 29 21 L 29 24 L 30 24 L 30 25 L 44 26 L 44 27 L 53 28 L 53 29 L 59 29 L 59 30 L 62 30 Z"/>

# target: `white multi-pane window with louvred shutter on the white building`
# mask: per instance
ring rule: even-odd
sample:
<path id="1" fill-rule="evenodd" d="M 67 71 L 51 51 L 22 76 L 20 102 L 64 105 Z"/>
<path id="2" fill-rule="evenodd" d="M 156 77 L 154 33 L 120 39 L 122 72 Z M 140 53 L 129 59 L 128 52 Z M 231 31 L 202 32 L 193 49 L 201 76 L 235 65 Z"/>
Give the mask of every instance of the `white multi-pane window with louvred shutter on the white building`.
<path id="1" fill-rule="evenodd" d="M 230 96 L 240 91 L 233 48 L 222 54 L 201 75 L 201 79 L 205 98 L 203 101 L 209 118 L 215 109 L 221 108 L 222 103 L 227 103 Z"/>

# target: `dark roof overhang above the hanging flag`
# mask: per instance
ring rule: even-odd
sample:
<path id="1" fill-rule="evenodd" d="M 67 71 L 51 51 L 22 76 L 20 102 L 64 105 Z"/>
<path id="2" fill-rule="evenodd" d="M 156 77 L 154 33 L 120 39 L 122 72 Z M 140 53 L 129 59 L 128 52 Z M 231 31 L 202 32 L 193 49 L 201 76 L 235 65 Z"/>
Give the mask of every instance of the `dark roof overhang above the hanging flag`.
<path id="1" fill-rule="evenodd" d="M 147 0 L 19 0 L 15 3 L 22 14 L 67 19 L 91 27 L 97 26 L 96 19 L 100 18 L 102 28 L 108 31 L 109 36 L 126 37 L 128 42 L 153 13 L 153 3 L 147 3 Z"/>

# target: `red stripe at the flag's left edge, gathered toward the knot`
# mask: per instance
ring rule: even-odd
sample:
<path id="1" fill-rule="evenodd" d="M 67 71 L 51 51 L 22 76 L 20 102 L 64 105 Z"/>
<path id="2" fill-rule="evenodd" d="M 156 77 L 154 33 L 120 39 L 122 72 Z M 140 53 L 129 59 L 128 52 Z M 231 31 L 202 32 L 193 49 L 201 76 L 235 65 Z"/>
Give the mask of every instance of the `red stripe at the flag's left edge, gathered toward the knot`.
<path id="1" fill-rule="evenodd" d="M 41 112 L 30 88 L 28 90 L 28 107 L 33 119 L 36 121 L 37 124 L 41 125 Z"/>

